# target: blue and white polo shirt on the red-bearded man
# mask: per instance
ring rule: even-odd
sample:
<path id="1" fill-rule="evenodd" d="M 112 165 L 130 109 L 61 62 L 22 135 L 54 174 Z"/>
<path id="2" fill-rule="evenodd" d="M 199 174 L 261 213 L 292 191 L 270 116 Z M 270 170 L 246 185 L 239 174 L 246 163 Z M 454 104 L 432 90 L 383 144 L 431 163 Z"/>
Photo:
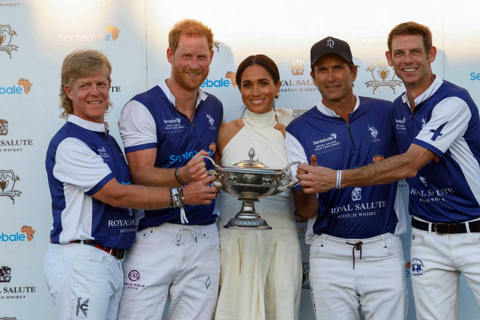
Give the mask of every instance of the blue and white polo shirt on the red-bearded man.
<path id="1" fill-rule="evenodd" d="M 200 150 L 215 157 L 218 128 L 224 121 L 223 106 L 214 95 L 198 89 L 193 124 L 175 108 L 175 97 L 167 83 L 135 95 L 120 115 L 119 130 L 125 153 L 156 148 L 155 166 L 184 166 Z M 207 170 L 213 169 L 210 161 Z M 209 205 L 185 206 L 188 225 L 210 225 L 218 216 L 215 201 Z M 138 229 L 165 222 L 181 224 L 180 209 L 137 211 Z"/>

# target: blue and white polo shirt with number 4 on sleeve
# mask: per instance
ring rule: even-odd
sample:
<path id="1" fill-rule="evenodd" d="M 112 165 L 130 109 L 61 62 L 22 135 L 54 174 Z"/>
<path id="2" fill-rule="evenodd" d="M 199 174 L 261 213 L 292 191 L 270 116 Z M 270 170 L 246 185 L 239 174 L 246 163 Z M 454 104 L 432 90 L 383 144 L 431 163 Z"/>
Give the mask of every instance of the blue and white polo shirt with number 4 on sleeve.
<path id="1" fill-rule="evenodd" d="M 404 93 L 394 101 L 392 121 L 400 152 L 411 143 L 437 155 L 408 179 L 408 211 L 434 223 L 480 217 L 480 120 L 468 91 L 435 76 L 415 100 L 413 114 Z"/>

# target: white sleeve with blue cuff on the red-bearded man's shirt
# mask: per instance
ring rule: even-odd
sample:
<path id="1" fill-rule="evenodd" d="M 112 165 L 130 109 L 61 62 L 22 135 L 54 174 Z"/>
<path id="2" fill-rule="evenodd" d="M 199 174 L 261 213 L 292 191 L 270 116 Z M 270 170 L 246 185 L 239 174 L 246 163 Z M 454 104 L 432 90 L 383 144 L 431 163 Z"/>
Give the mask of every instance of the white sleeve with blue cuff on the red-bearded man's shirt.
<path id="1" fill-rule="evenodd" d="M 120 137 L 125 153 L 156 148 L 156 124 L 152 114 L 138 101 L 123 107 L 119 119 Z"/>

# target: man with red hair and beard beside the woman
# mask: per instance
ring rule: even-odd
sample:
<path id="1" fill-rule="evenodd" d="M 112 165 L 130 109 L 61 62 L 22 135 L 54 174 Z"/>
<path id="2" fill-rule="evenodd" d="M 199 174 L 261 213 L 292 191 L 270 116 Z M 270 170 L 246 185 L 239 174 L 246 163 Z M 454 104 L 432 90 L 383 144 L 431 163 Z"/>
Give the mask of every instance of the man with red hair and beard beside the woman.
<path id="1" fill-rule="evenodd" d="M 134 183 L 175 188 L 207 178 L 213 167 L 199 155 L 214 156 L 224 120 L 221 102 L 199 88 L 213 53 L 212 30 L 203 23 L 185 19 L 172 27 L 170 78 L 134 96 L 119 119 Z M 138 232 L 123 262 L 120 320 L 160 319 L 167 298 L 167 318 L 212 318 L 220 274 L 215 200 L 181 207 L 137 211 Z"/>

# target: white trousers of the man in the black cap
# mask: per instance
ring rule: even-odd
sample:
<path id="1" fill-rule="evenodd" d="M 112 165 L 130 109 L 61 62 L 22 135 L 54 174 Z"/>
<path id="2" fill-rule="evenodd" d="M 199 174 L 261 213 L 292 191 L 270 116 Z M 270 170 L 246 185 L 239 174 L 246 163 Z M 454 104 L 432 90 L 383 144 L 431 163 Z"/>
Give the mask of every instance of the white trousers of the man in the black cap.
<path id="1" fill-rule="evenodd" d="M 360 248 L 348 244 L 358 241 L 363 243 L 361 259 Z M 405 259 L 398 236 L 344 239 L 320 235 L 310 247 L 309 277 L 317 320 L 360 320 L 359 309 L 365 320 L 407 317 Z"/>

